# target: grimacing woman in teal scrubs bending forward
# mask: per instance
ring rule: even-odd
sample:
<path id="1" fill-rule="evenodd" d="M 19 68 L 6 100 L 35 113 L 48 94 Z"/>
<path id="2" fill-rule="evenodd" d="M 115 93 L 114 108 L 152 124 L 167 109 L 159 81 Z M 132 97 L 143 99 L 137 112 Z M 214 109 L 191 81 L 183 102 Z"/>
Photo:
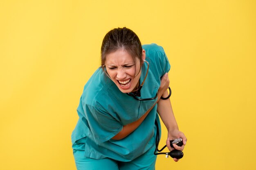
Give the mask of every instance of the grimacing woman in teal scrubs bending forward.
<path id="1" fill-rule="evenodd" d="M 158 114 L 168 130 L 168 149 L 172 150 L 169 140 L 178 137 L 186 144 L 170 100 L 161 99 L 168 96 L 169 70 L 162 47 L 141 46 L 128 28 L 106 34 L 101 67 L 84 87 L 77 109 L 79 120 L 72 133 L 78 170 L 155 169 Z M 184 145 L 174 147 L 183 150 Z"/>

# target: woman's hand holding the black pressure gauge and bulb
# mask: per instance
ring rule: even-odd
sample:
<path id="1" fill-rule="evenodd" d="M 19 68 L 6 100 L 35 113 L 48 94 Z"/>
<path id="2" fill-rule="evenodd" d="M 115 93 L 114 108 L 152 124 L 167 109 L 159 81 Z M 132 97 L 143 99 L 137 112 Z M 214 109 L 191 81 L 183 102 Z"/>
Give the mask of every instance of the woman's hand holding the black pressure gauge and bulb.
<path id="1" fill-rule="evenodd" d="M 174 140 L 174 139 L 177 139 L 177 138 L 182 138 L 182 142 L 183 142 L 183 145 L 182 146 L 177 146 L 176 144 L 173 144 L 173 147 L 174 148 L 171 148 L 171 145 L 170 145 L 170 140 Z M 186 136 L 184 135 L 184 133 L 182 133 L 181 131 L 175 129 L 175 130 L 172 130 L 172 131 L 168 131 L 168 137 L 167 137 L 167 140 L 166 140 L 166 146 L 167 148 L 172 151 L 174 149 L 177 149 L 177 150 L 184 150 L 184 146 L 186 145 Z M 175 162 L 179 161 L 179 159 L 176 159 L 176 158 L 173 158 L 173 160 Z"/>

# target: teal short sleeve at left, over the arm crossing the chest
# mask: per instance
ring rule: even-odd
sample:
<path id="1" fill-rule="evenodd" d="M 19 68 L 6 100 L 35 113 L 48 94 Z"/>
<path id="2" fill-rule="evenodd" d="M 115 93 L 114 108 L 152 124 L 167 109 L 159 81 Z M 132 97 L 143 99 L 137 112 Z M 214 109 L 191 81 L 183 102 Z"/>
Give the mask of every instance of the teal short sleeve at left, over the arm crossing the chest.
<path id="1" fill-rule="evenodd" d="M 83 109 L 97 144 L 106 142 L 122 130 L 123 125 L 103 108 L 85 105 Z"/>

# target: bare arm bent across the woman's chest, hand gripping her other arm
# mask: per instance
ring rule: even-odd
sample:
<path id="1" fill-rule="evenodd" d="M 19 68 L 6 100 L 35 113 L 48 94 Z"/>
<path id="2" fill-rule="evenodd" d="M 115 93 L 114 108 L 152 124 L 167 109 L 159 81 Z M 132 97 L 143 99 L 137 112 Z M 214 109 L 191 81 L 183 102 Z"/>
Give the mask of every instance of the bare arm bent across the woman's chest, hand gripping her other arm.
<path id="1" fill-rule="evenodd" d="M 161 79 L 161 84 L 160 87 L 158 89 L 158 96 L 157 96 L 157 102 L 159 102 L 161 96 L 164 94 L 164 92 L 166 92 L 166 90 L 169 87 L 169 78 L 168 78 L 168 73 L 166 73 L 163 78 Z M 157 103 L 155 102 L 155 104 Z M 112 139 L 115 140 L 120 140 L 125 138 L 126 136 L 130 135 L 130 133 L 132 133 L 135 129 L 137 129 L 137 127 L 139 127 L 139 125 L 141 124 L 141 122 L 143 122 L 143 120 L 146 118 L 146 116 L 148 116 L 148 113 L 153 109 L 153 107 L 155 106 L 155 104 L 143 115 L 141 116 L 141 118 L 139 118 L 138 120 L 136 120 L 135 122 L 132 122 L 130 124 L 126 124 L 123 126 L 123 129 L 117 133 L 117 135 L 115 135 L 114 137 L 112 137 Z M 157 107 L 158 108 L 158 107 Z"/>

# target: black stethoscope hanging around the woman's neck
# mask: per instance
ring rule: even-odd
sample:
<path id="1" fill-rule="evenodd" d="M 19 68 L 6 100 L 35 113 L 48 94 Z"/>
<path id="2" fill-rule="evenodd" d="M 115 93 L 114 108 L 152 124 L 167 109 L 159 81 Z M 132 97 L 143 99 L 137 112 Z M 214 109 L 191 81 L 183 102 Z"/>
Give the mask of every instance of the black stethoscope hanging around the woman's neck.
<path id="1" fill-rule="evenodd" d="M 157 92 L 157 94 L 155 94 L 155 97 L 152 97 L 152 98 L 137 98 L 137 97 L 136 97 L 136 96 L 140 97 L 141 88 L 143 87 L 144 82 L 145 82 L 145 80 L 146 80 L 146 78 L 147 78 L 147 76 L 148 76 L 149 63 L 148 63 L 148 61 L 146 61 L 146 60 L 143 60 L 143 61 L 145 61 L 145 63 L 148 64 L 148 68 L 147 68 L 147 72 L 146 72 L 146 76 L 145 76 L 144 80 L 142 81 L 141 85 L 139 86 L 139 88 L 136 90 L 135 93 L 130 92 L 130 93 L 126 93 L 126 94 L 129 95 L 129 96 L 132 96 L 132 97 L 135 98 L 136 100 L 140 100 L 140 101 L 154 100 L 155 98 L 157 98 L 158 92 Z M 166 98 L 161 97 L 163 100 L 166 100 L 166 99 L 170 98 L 170 96 L 171 96 L 171 88 L 168 87 L 168 89 L 169 89 L 169 95 L 168 95 L 168 97 L 166 97 Z"/>

